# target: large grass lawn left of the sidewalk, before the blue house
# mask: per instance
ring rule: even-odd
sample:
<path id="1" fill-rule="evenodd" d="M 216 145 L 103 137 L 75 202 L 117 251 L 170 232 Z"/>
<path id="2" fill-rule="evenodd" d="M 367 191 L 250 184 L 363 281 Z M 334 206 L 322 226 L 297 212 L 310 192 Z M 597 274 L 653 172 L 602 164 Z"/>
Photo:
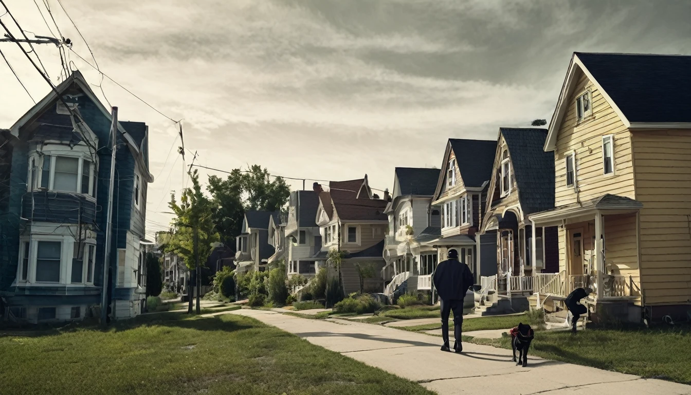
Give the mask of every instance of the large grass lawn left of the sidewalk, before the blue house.
<path id="1" fill-rule="evenodd" d="M 240 315 L 0 333 L 0 394 L 431 394 Z"/>

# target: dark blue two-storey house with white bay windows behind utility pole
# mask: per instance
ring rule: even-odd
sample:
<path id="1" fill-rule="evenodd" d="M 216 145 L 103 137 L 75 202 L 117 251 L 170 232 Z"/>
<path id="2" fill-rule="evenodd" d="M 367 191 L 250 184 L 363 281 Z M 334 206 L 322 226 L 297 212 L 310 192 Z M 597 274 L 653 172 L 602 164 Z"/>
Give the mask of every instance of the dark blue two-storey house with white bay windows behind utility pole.
<path id="1" fill-rule="evenodd" d="M 18 320 L 98 315 L 104 289 L 111 174 L 111 111 L 79 71 L 10 129 L 0 173 L 0 296 Z M 146 300 L 144 225 L 148 128 L 117 125 L 113 239 L 107 299 L 111 318 L 138 315 Z M 3 309 L 4 310 L 4 309 Z"/>

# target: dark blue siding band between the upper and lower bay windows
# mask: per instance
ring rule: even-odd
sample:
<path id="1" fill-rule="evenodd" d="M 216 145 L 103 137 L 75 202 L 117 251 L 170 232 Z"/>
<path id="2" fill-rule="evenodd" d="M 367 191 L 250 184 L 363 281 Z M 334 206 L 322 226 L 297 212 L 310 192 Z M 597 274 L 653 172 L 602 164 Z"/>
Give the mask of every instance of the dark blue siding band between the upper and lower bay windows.
<path id="1" fill-rule="evenodd" d="M 33 201 L 32 201 L 33 196 Z M 31 206 L 33 205 L 33 215 Z M 81 208 L 81 210 L 80 210 Z M 21 216 L 41 222 L 96 223 L 96 203 L 77 194 L 33 192 L 24 195 Z"/>

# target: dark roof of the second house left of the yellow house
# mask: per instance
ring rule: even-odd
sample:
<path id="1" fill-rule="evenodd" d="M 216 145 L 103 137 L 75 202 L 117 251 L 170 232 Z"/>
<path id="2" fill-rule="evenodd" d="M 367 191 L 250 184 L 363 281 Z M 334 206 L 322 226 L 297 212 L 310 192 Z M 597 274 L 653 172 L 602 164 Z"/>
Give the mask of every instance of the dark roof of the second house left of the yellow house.
<path id="1" fill-rule="evenodd" d="M 456 155 L 456 163 L 466 187 L 482 187 L 482 183 L 489 181 L 497 150 L 495 140 L 449 138 L 448 143 Z"/>

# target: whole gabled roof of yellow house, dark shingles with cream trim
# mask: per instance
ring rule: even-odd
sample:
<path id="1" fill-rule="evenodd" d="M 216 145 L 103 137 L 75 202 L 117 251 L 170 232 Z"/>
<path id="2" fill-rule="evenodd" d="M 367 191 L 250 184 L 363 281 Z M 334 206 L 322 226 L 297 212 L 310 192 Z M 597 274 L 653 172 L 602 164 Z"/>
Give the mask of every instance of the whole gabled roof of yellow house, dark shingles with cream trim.
<path id="1" fill-rule="evenodd" d="M 549 122 L 551 151 L 582 71 L 630 129 L 691 128 L 691 56 L 574 52 Z"/>

